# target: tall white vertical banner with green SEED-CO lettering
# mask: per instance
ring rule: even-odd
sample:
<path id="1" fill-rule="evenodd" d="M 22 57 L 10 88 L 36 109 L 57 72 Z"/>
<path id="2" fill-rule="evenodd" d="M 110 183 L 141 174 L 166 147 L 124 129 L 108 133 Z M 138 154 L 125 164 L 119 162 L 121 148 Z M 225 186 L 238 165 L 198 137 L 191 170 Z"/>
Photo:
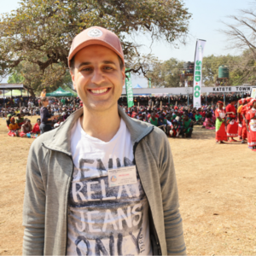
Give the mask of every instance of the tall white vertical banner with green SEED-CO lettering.
<path id="1" fill-rule="evenodd" d="M 193 85 L 193 107 L 201 108 L 201 66 L 207 41 L 197 39 L 195 47 L 195 67 Z"/>

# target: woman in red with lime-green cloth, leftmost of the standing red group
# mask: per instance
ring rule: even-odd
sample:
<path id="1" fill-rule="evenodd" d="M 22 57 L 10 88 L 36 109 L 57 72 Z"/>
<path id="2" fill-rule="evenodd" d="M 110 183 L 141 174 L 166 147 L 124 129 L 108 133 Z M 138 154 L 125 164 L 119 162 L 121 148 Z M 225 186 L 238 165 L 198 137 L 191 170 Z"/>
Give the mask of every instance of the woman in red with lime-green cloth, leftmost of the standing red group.
<path id="1" fill-rule="evenodd" d="M 216 117 L 216 143 L 224 143 L 228 140 L 227 132 L 225 130 L 226 120 L 225 111 L 223 109 L 223 102 L 218 102 L 218 108 L 215 110 Z"/>

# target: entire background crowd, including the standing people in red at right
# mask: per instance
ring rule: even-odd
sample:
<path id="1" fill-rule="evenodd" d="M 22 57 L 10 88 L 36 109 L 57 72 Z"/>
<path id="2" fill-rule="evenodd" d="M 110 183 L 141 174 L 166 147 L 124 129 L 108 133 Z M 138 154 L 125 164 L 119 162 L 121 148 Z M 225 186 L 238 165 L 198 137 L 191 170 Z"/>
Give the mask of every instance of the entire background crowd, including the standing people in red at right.
<path id="1" fill-rule="evenodd" d="M 182 103 L 161 106 L 162 102 L 156 101 L 152 105 L 153 100 L 148 97 L 147 105 L 121 107 L 131 118 L 159 127 L 168 137 L 191 137 L 194 126 L 200 125 L 201 128 L 216 130 L 216 143 L 237 142 L 235 137 L 238 137 L 239 142 L 248 143 L 248 147 L 256 151 L 255 99 L 247 97 L 237 101 L 236 96 L 233 96 L 226 108 L 224 102 L 218 101 L 217 106 L 205 105 L 199 109 Z M 32 99 L 28 99 L 28 102 L 34 103 Z M 60 126 L 71 113 L 83 106 L 79 98 L 73 104 L 73 100 L 68 98 L 43 97 L 38 100 L 41 108 L 33 103 L 27 108 L 2 108 L 3 116 L 7 116 L 9 136 L 38 137 L 40 133 Z M 33 127 L 30 119 L 25 118 L 32 115 L 41 116 Z"/>

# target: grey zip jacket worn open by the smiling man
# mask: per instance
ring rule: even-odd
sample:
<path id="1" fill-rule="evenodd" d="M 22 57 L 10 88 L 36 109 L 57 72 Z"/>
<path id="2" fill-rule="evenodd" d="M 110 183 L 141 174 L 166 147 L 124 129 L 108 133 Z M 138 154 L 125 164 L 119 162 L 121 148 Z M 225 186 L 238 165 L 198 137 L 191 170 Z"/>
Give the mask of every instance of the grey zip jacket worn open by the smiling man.
<path id="1" fill-rule="evenodd" d="M 83 108 L 58 128 L 38 137 L 26 166 L 23 209 L 24 255 L 65 255 L 67 198 L 73 176 L 70 132 Z M 184 255 L 183 224 L 171 148 L 159 128 L 128 117 L 137 172 L 148 198 L 150 238 L 154 255 Z"/>

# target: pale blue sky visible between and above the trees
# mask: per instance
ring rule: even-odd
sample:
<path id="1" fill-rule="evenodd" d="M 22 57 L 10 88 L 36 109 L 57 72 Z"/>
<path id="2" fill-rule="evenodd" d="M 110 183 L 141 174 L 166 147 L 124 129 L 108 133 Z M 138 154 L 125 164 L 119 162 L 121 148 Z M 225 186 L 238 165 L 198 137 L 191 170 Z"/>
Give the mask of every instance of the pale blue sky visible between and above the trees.
<path id="1" fill-rule="evenodd" d="M 0 14 L 10 12 L 19 7 L 20 0 L 0 0 Z M 155 42 L 152 46 L 152 53 L 161 61 L 170 58 L 177 58 L 180 61 L 194 61 L 196 39 L 207 40 L 204 55 L 236 55 L 237 50 L 227 49 L 229 44 L 224 34 L 218 32 L 224 28 L 220 22 L 233 21 L 228 19 L 229 15 L 239 15 L 239 9 L 248 9 L 252 6 L 252 0 L 184 0 L 185 7 L 192 14 L 189 21 L 189 37 L 186 45 L 179 45 L 175 49 L 165 41 Z M 149 41 L 145 36 L 136 38 L 138 44 L 143 44 L 143 53 L 149 53 Z M 146 43 L 145 43 L 146 42 Z M 3 80 L 5 82 L 6 80 Z M 142 87 L 148 86 L 148 80 L 138 76 L 131 76 L 132 85 L 140 84 Z"/>

